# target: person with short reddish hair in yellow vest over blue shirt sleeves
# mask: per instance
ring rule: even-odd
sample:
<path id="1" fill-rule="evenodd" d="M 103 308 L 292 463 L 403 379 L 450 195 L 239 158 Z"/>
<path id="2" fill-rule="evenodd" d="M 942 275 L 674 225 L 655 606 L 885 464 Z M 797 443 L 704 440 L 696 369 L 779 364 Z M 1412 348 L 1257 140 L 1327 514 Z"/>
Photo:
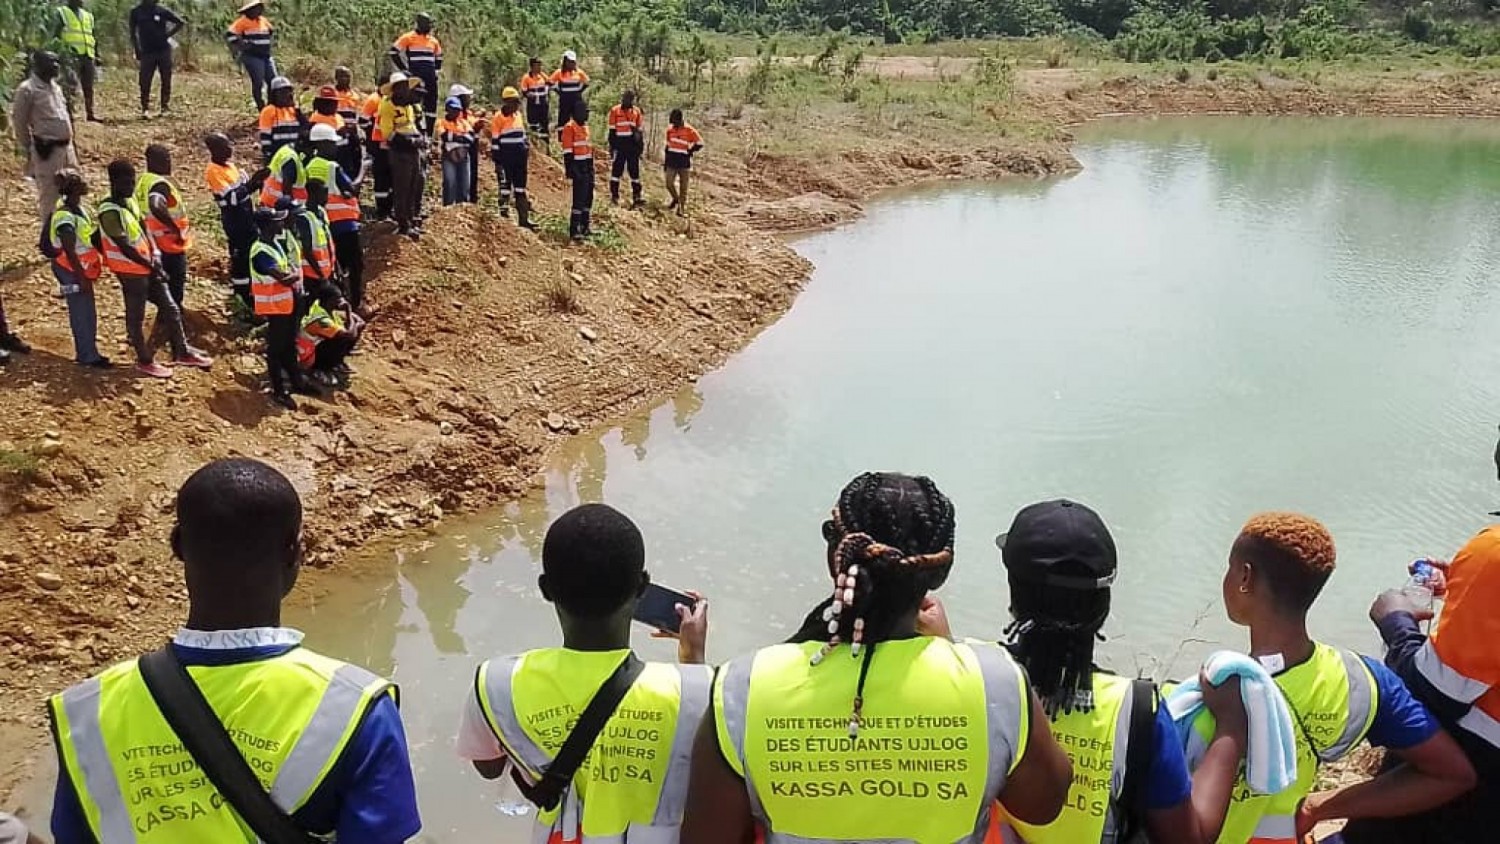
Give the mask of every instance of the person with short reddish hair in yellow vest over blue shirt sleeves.
<path id="1" fill-rule="evenodd" d="M 1275 678 L 1298 721 L 1298 780 L 1280 795 L 1251 795 L 1244 778 L 1221 844 L 1300 841 L 1324 820 L 1401 817 L 1452 801 L 1474 786 L 1474 769 L 1390 669 L 1308 636 L 1308 610 L 1334 574 L 1334 537 L 1298 513 L 1262 513 L 1240 529 L 1224 573 L 1228 619 L 1250 628 L 1250 655 Z M 1191 724 L 1198 738 L 1214 718 Z M 1318 768 L 1362 741 L 1404 765 L 1366 783 L 1312 793 Z M 1196 762 L 1192 745 L 1190 765 Z"/>

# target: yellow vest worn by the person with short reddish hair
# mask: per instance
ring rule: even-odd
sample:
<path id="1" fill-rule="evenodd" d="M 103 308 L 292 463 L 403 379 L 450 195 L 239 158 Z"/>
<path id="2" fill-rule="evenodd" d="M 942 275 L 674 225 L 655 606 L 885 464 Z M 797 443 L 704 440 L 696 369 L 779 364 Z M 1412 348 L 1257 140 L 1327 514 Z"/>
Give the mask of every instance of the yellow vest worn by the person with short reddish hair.
<path id="1" fill-rule="evenodd" d="M 1317 769 L 1365 741 L 1380 708 L 1380 691 L 1365 661 L 1352 651 L 1314 643 L 1312 657 L 1275 675 L 1298 723 L 1298 780 L 1280 795 L 1254 795 L 1244 775 L 1224 819 L 1220 844 L 1296 841 L 1298 805 L 1317 786 Z M 1214 738 L 1204 709 L 1188 736 L 1188 766 L 1197 769 Z"/>

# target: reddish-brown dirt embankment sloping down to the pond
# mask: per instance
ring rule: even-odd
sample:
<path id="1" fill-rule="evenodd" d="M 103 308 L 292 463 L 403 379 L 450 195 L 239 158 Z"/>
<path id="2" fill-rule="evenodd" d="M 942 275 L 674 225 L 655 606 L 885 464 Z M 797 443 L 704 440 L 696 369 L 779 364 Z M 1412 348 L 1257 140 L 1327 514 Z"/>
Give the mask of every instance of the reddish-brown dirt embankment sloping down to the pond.
<path id="1" fill-rule="evenodd" d="M 765 129 L 753 114 L 702 115 L 710 154 L 694 172 L 690 223 L 658 207 L 604 210 L 602 228 L 615 228 L 618 243 L 585 247 L 519 231 L 488 208 L 435 211 L 420 243 L 372 226 L 369 289 L 381 312 L 352 361 L 352 387 L 285 412 L 261 394 L 258 342 L 224 309 L 222 246 L 201 187 L 202 132 L 232 127 L 242 159 L 254 157 L 249 117 L 224 96 L 238 81 L 184 75 L 178 114 L 190 117 L 158 121 L 128 118 L 130 96 L 112 84 L 110 123 L 80 127 L 84 166 L 102 190 L 110 159 L 140 160 L 147 142 L 174 148 L 202 235 L 189 334 L 219 360 L 165 382 L 75 367 L 66 312 L 26 234 L 30 189 L 14 160 L 0 165 L 0 219 L 18 232 L 0 244 L 0 282 L 12 325 L 36 346 L 0 370 L 0 795 L 46 753 L 46 694 L 154 646 L 180 622 L 186 595 L 166 550 L 172 493 L 206 460 L 243 454 L 284 469 L 306 502 L 309 564 L 336 565 L 372 541 L 516 496 L 561 438 L 742 348 L 808 273 L 764 232 L 854 219 L 861 202 L 902 184 L 1077 166 L 1060 130 L 938 144 L 855 129 L 848 142 L 771 156 L 746 141 Z M 1320 88 L 1038 70 L 1022 76 L 1014 108 L 1054 124 L 1108 112 L 1488 115 L 1500 114 L 1497 90 L 1482 78 Z M 488 205 L 492 177 L 482 169 Z M 555 162 L 534 160 L 531 189 L 543 211 L 566 216 Z M 100 282 L 100 349 L 124 363 L 116 291 Z"/>

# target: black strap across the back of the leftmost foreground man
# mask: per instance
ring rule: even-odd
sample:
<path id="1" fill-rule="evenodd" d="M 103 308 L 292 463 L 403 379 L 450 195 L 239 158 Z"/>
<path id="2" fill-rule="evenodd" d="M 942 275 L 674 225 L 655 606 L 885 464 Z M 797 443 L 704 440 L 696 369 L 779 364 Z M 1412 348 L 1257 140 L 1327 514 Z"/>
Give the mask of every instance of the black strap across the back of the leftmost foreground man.
<path id="1" fill-rule="evenodd" d="M 141 657 L 138 666 L 166 724 L 255 835 L 266 844 L 314 844 L 315 840 L 272 802 L 171 645 Z"/>

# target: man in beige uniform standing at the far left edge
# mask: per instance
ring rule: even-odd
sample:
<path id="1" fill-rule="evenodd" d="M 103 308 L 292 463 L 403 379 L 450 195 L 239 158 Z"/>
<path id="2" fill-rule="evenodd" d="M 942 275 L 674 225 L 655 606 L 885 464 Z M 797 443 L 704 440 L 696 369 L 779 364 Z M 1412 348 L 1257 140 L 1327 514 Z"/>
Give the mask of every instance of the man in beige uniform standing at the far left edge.
<path id="1" fill-rule="evenodd" d="M 15 88 L 10 126 L 21 153 L 28 156 L 28 172 L 36 181 L 36 214 L 40 223 L 57 207 L 57 171 L 78 166 L 74 154 L 74 120 L 57 84 L 57 54 L 32 55 L 32 75 Z"/>

